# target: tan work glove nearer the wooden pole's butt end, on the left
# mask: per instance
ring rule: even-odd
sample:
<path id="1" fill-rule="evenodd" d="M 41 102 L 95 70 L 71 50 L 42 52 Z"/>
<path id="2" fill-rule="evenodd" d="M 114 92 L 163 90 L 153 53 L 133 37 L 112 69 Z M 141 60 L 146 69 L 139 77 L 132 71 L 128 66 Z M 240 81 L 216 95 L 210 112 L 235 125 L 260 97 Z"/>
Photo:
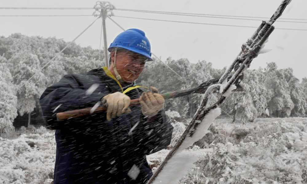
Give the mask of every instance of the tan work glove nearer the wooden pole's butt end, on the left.
<path id="1" fill-rule="evenodd" d="M 126 94 L 120 92 L 111 93 L 101 99 L 101 105 L 107 106 L 107 120 L 111 121 L 111 117 L 121 116 L 122 113 L 130 113 L 130 98 Z"/>

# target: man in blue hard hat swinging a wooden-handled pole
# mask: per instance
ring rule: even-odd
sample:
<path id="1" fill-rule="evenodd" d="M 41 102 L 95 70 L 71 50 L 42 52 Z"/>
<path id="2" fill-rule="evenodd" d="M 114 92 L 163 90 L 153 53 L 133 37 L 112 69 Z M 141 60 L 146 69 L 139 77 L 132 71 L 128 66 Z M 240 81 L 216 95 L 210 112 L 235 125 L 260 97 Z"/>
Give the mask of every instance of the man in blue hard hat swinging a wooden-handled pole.
<path id="1" fill-rule="evenodd" d="M 146 155 L 170 143 L 173 127 L 162 110 L 164 98 L 153 87 L 142 93 L 134 82 L 152 60 L 145 33 L 128 29 L 108 50 L 110 70 L 65 75 L 41 95 L 48 127 L 56 130 L 54 184 L 146 183 L 152 175 Z M 136 98 L 141 105 L 129 108 Z M 56 120 L 58 112 L 97 104 L 107 112 Z"/>

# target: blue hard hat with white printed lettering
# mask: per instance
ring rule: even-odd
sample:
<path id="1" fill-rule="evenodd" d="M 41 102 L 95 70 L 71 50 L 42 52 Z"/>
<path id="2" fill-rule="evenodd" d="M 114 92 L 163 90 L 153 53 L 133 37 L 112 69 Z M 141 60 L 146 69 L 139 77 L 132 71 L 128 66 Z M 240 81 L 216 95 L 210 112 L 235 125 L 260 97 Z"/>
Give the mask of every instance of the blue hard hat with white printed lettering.
<path id="1" fill-rule="evenodd" d="M 112 48 L 124 48 L 148 57 L 149 61 L 153 60 L 151 58 L 149 40 L 145 36 L 144 31 L 140 29 L 128 29 L 117 35 L 108 51 L 111 52 Z"/>

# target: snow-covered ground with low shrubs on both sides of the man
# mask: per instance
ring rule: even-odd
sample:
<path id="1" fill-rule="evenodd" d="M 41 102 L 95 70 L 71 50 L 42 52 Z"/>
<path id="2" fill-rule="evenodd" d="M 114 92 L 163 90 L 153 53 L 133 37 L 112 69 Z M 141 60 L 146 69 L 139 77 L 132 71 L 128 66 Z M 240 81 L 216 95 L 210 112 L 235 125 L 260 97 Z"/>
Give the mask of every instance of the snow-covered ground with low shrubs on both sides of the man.
<path id="1" fill-rule="evenodd" d="M 173 125 L 171 145 L 185 128 L 181 122 Z M 200 159 L 180 183 L 307 183 L 307 118 L 216 119 L 212 125 L 197 143 L 204 148 L 183 151 Z M 54 131 L 41 127 L 14 134 L 17 138 L 0 138 L 0 183 L 52 183 Z M 168 152 L 147 156 L 153 170 Z"/>

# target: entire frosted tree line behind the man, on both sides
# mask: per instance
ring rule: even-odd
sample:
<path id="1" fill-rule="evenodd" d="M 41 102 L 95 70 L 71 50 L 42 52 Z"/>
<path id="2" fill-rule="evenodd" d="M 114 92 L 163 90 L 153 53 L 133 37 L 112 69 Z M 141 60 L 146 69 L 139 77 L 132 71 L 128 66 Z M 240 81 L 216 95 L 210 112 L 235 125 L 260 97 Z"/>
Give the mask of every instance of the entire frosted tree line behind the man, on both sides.
<path id="1" fill-rule="evenodd" d="M 103 51 L 73 43 L 41 70 L 67 44 L 55 37 L 29 37 L 19 33 L 0 37 L 0 133 L 13 130 L 13 123 L 18 126 L 21 121 L 26 122 L 24 126 L 43 124 L 39 98 L 47 86 L 66 74 L 84 74 L 104 66 Z M 165 63 L 181 77 L 154 59 L 146 63 L 137 83 L 155 86 L 160 93 L 167 93 L 197 87 L 220 77 L 226 70 L 226 67 L 215 69 L 205 60 L 190 63 L 188 59 L 168 58 Z M 256 117 L 265 117 L 268 108 L 272 117 L 306 116 L 307 78 L 300 82 L 291 68 L 278 69 L 275 63 L 268 63 L 265 68 L 247 70 L 241 86 L 244 91 L 232 93 L 221 106 L 224 115 L 236 112 L 237 117 L 253 121 Z M 217 98 L 218 94 L 214 94 L 209 102 Z M 165 101 L 165 109 L 190 118 L 201 99 L 201 94 L 169 99 Z"/>

